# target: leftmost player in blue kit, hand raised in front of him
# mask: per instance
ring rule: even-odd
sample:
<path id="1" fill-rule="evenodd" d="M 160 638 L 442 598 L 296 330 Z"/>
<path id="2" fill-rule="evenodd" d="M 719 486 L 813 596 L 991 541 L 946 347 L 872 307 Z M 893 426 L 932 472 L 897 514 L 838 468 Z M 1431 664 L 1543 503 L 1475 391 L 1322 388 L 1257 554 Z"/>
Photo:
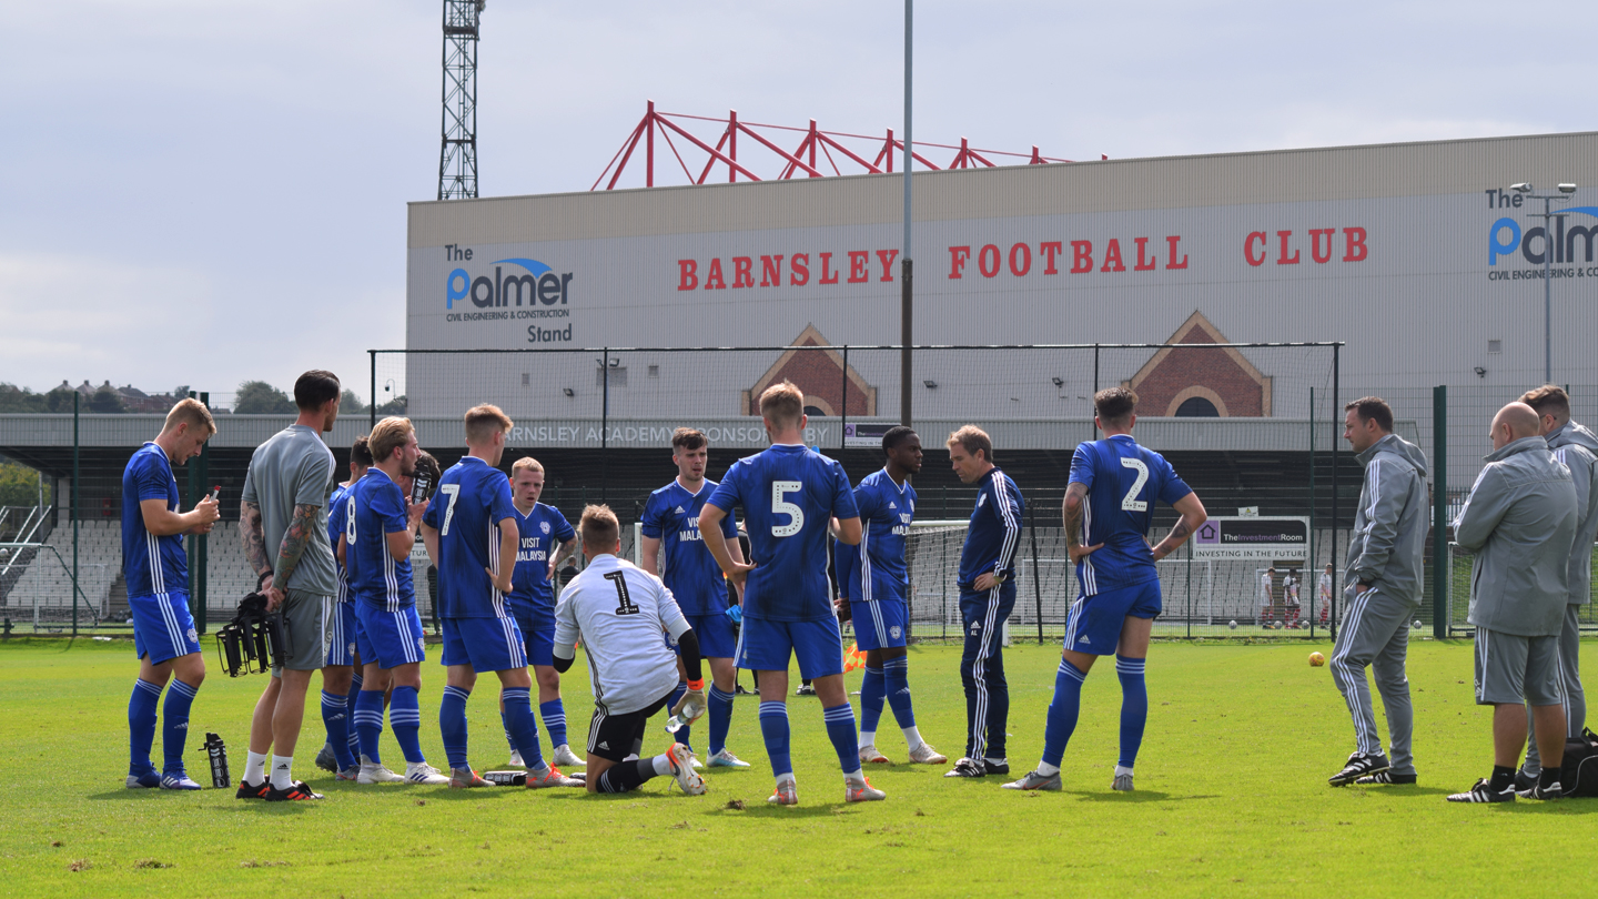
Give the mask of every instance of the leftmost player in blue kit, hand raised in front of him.
<path id="1" fill-rule="evenodd" d="M 139 656 L 139 680 L 128 701 L 128 789 L 161 787 L 198 790 L 184 769 L 189 709 L 205 681 L 200 635 L 189 614 L 189 557 L 184 534 L 206 534 L 216 525 L 216 496 L 189 512 L 177 512 L 177 480 L 173 465 L 200 454 L 216 434 L 211 411 L 197 400 L 179 400 L 161 434 L 141 446 L 121 473 L 121 574 L 133 613 L 133 646 Z M 155 771 L 155 704 L 161 709 L 163 766 Z"/>

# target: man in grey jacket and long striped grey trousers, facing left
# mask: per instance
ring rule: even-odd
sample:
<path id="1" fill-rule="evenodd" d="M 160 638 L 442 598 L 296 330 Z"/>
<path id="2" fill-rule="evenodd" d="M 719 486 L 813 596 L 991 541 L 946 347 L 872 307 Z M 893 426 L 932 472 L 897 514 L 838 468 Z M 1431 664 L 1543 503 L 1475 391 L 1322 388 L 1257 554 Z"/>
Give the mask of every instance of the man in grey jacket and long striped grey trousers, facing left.
<path id="1" fill-rule="evenodd" d="M 1425 453 L 1392 434 L 1392 410 L 1374 397 L 1349 403 L 1344 437 L 1358 451 L 1365 483 L 1342 574 L 1347 611 L 1331 654 L 1331 677 L 1354 717 L 1355 753 L 1349 766 L 1331 777 L 1331 784 L 1347 785 L 1382 771 L 1390 774 L 1374 782 L 1414 782 L 1409 749 L 1414 710 L 1405 659 L 1409 619 L 1421 606 L 1424 584 L 1429 526 Z M 1376 731 L 1366 667 L 1376 675 L 1376 689 L 1387 712 L 1390 765 Z"/>

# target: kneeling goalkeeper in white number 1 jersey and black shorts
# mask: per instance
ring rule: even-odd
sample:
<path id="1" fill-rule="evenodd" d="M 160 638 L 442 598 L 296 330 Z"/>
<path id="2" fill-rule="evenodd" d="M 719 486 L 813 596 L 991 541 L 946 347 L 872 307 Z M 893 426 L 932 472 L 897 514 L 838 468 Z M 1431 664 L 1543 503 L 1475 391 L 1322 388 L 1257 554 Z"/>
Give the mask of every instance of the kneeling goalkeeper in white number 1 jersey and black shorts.
<path id="1" fill-rule="evenodd" d="M 686 721 L 705 715 L 698 637 L 658 577 L 617 558 L 622 525 L 609 505 L 583 509 L 577 529 L 588 566 L 555 606 L 555 670 L 566 673 L 572 667 L 582 638 L 594 691 L 588 792 L 625 793 L 670 774 L 684 793 L 700 795 L 705 781 L 694 773 L 694 755 L 676 741 L 660 755 L 625 761 L 641 755 L 649 717 L 670 705 L 678 688 L 678 656 L 660 638 L 662 630 L 682 651 L 689 680 L 689 691 L 671 713 Z"/>

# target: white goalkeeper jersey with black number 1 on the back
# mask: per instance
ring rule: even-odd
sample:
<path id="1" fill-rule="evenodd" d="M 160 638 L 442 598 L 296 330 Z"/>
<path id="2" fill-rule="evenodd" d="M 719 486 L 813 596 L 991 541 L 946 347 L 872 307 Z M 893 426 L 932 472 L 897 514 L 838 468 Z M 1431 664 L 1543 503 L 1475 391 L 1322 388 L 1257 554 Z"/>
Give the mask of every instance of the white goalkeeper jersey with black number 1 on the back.
<path id="1" fill-rule="evenodd" d="M 689 630 L 671 590 L 658 577 L 614 555 L 599 555 L 561 590 L 555 605 L 556 653 L 582 638 L 594 704 L 625 715 L 670 694 L 676 640 Z"/>

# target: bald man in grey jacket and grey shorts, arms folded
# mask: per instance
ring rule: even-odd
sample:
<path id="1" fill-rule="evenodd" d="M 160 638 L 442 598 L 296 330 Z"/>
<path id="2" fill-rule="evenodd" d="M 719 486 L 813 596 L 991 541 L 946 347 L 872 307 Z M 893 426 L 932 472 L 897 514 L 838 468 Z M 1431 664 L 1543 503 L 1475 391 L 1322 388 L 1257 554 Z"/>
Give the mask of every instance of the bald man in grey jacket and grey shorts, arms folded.
<path id="1" fill-rule="evenodd" d="M 1560 632 L 1569 601 L 1577 501 L 1571 472 L 1548 450 L 1537 414 L 1510 403 L 1493 419 L 1493 453 L 1454 521 L 1475 553 L 1470 624 L 1477 627 L 1477 704 L 1494 705 L 1494 781 L 1513 773 L 1531 704 L 1542 757 L 1564 755 Z M 1494 790 L 1502 790 L 1493 784 Z"/>

